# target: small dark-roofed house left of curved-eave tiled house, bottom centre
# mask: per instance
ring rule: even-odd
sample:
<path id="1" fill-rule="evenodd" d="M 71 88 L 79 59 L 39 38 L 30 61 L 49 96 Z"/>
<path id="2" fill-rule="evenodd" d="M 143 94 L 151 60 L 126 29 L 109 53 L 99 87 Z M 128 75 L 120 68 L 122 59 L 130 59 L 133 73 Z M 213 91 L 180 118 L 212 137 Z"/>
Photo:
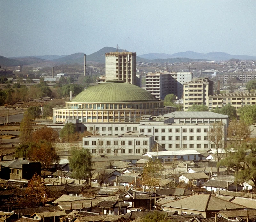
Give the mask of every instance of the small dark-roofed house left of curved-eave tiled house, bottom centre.
<path id="1" fill-rule="evenodd" d="M 120 201 L 101 201 L 97 204 L 97 207 L 103 214 L 125 214 L 127 213 L 127 207 L 129 203 L 123 203 Z"/>

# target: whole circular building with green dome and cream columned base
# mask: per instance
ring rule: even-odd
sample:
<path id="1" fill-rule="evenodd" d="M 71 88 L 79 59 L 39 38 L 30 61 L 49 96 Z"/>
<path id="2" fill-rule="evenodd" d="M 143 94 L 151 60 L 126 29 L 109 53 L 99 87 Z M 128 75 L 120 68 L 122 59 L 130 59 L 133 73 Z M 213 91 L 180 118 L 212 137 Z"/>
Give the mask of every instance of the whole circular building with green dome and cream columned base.
<path id="1" fill-rule="evenodd" d="M 53 108 L 53 122 L 138 122 L 143 115 L 163 115 L 175 111 L 164 107 L 148 91 L 118 80 L 92 86 L 79 93 L 65 108 Z"/>

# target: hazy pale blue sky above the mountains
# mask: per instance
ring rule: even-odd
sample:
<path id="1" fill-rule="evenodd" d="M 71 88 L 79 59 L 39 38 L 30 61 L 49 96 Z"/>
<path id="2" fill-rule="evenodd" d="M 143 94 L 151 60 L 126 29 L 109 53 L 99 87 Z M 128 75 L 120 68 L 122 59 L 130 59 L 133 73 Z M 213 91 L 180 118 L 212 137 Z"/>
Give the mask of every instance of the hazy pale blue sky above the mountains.
<path id="1" fill-rule="evenodd" d="M 254 0 L 0 0 L 0 55 L 91 54 L 105 46 L 256 56 Z"/>

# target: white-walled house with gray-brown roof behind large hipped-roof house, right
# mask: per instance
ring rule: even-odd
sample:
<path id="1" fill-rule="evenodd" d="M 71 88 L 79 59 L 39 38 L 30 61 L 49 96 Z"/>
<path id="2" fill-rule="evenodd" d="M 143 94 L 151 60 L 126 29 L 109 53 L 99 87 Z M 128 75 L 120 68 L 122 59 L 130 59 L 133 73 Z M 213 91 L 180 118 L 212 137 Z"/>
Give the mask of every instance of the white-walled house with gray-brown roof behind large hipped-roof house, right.
<path id="1" fill-rule="evenodd" d="M 214 192 L 216 192 L 217 190 L 240 191 L 242 189 L 241 185 L 235 185 L 233 182 L 226 182 L 215 179 L 210 179 L 206 181 L 202 186 L 206 190 Z"/>

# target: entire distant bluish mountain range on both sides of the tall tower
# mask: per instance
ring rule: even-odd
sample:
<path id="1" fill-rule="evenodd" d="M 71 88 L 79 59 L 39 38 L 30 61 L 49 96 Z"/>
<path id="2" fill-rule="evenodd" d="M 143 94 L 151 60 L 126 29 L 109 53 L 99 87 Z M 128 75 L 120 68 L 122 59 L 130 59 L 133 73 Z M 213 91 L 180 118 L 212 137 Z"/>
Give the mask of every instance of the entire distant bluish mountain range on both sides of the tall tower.
<path id="1" fill-rule="evenodd" d="M 87 62 L 105 63 L 105 53 L 116 52 L 116 48 L 104 47 L 97 52 L 86 56 Z M 193 51 L 179 52 L 174 54 L 164 53 L 149 53 L 137 56 L 138 62 L 152 62 L 152 63 L 178 63 L 178 62 L 195 62 L 195 61 L 221 61 L 229 59 L 240 60 L 256 60 L 256 56 L 246 55 L 230 55 L 223 52 L 210 52 L 207 54 L 197 53 Z M 2 66 L 18 66 L 31 65 L 31 66 L 55 66 L 59 64 L 83 64 L 84 53 L 75 53 L 71 55 L 43 55 L 43 56 L 23 56 L 6 58 L 0 56 L 0 65 Z"/>

